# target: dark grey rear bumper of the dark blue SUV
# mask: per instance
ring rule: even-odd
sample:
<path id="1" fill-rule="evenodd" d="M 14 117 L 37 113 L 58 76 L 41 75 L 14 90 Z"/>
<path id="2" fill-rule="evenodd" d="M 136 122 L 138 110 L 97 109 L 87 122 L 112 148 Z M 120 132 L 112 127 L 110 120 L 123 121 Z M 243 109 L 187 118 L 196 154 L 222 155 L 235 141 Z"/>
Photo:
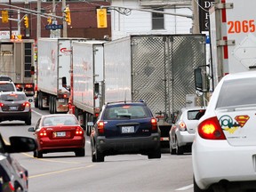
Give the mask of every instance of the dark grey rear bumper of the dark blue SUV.
<path id="1" fill-rule="evenodd" d="M 107 139 L 98 136 L 96 147 L 101 153 L 108 156 L 111 154 L 137 154 L 160 148 L 159 133 L 152 133 L 148 137 Z"/>

